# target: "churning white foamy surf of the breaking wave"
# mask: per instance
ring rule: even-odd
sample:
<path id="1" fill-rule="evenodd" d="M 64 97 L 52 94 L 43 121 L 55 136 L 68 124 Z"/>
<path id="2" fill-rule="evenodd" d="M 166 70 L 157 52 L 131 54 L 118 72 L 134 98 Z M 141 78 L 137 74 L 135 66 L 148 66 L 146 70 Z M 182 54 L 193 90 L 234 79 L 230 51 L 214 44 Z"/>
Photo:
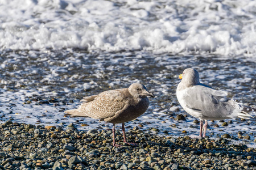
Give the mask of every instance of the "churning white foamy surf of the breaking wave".
<path id="1" fill-rule="evenodd" d="M 1 50 L 256 54 L 256 1 L 1 0 Z"/>

